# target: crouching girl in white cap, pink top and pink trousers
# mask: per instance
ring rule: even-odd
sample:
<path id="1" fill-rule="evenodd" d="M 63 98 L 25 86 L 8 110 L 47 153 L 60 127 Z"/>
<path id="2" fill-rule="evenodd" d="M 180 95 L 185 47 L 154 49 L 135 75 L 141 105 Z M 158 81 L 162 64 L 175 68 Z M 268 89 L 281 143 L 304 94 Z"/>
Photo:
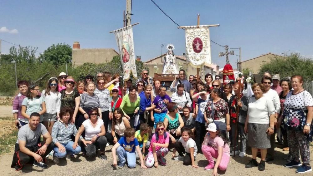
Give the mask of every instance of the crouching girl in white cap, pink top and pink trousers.
<path id="1" fill-rule="evenodd" d="M 204 168 L 205 170 L 213 169 L 213 176 L 217 175 L 217 168 L 226 170 L 230 158 L 230 149 L 226 141 L 218 135 L 218 125 L 211 123 L 208 125 L 208 133 L 205 135 L 202 152 L 208 159 L 209 164 Z M 216 163 L 214 165 L 214 160 Z"/>

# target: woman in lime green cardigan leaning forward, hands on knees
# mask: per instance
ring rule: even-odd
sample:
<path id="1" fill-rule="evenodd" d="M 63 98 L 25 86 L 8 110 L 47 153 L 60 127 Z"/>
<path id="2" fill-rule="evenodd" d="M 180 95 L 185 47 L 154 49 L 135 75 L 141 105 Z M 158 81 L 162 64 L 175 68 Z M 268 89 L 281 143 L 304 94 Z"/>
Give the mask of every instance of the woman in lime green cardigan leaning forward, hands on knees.
<path id="1" fill-rule="evenodd" d="M 137 88 L 135 86 L 131 86 L 129 88 L 129 94 L 124 96 L 120 107 L 123 110 L 125 117 L 129 120 L 132 128 L 134 128 L 135 115 L 139 110 L 139 105 L 140 96 L 137 95 Z"/>

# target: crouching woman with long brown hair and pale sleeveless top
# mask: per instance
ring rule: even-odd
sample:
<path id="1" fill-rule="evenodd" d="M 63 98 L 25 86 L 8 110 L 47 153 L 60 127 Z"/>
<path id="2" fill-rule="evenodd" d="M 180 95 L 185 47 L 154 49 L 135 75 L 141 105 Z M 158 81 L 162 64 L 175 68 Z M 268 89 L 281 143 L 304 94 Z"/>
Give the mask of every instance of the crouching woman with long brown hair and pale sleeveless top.
<path id="1" fill-rule="evenodd" d="M 131 127 L 121 108 L 116 108 L 113 113 L 111 133 L 106 134 L 110 144 L 116 144 L 124 136 L 124 130 Z"/>

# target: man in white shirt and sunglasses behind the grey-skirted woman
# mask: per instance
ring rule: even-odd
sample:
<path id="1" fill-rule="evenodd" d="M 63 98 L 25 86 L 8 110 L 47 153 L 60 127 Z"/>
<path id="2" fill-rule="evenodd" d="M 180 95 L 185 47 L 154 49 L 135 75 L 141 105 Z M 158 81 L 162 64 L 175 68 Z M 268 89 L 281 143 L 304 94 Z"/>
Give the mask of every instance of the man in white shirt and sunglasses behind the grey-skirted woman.
<path id="1" fill-rule="evenodd" d="M 277 119 L 279 117 L 280 113 L 280 100 L 277 92 L 273 89 L 271 89 L 271 84 L 273 83 L 272 78 L 268 76 L 263 76 L 262 78 L 262 84 L 264 84 L 265 90 L 263 92 L 263 95 L 272 100 L 275 106 L 275 124 L 277 123 Z M 267 156 L 265 161 L 272 161 L 274 160 L 274 151 L 275 151 L 275 132 L 276 129 L 274 130 L 274 134 L 271 135 L 270 141 L 271 141 L 271 148 L 267 150 Z"/>

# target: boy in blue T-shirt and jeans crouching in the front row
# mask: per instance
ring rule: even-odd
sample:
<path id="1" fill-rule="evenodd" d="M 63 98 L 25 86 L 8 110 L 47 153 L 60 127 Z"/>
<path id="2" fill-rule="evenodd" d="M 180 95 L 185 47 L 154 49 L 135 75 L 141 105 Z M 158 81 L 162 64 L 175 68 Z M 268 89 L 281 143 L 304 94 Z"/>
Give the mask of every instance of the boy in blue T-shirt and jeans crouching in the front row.
<path id="1" fill-rule="evenodd" d="M 137 151 L 137 153 L 141 153 L 139 149 L 138 140 L 135 138 L 135 130 L 129 127 L 125 129 L 124 137 L 121 137 L 121 139 L 112 147 L 113 166 L 123 168 L 126 164 L 127 159 L 128 167 L 135 168 L 136 167 L 135 151 Z M 120 160 L 118 164 L 116 161 L 116 153 Z M 145 163 L 143 162 L 142 155 L 139 155 L 139 158 L 141 162 L 141 168 L 147 168 L 145 166 Z"/>

